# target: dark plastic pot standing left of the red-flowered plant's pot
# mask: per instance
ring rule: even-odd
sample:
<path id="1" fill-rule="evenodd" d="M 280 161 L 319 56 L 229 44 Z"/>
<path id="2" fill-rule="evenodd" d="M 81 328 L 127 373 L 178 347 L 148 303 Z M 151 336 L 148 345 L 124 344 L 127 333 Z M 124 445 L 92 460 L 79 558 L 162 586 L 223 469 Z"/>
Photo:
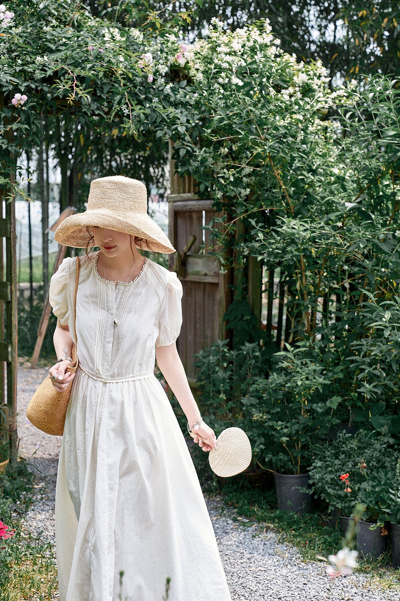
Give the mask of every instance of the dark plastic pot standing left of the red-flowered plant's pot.
<path id="1" fill-rule="evenodd" d="M 275 477 L 276 498 L 282 511 L 294 511 L 302 515 L 311 507 L 311 495 L 299 488 L 309 488 L 308 474 L 273 474 Z"/>

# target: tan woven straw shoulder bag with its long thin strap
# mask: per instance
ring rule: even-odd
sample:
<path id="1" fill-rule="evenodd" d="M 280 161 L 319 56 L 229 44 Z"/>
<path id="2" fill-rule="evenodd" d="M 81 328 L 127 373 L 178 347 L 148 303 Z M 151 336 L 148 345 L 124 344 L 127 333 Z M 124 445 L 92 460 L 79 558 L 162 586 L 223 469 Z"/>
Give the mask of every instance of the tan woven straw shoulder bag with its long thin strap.
<path id="1" fill-rule="evenodd" d="M 79 280 L 79 257 L 76 258 L 76 281 L 75 281 L 75 294 L 74 294 L 74 330 L 76 339 L 76 293 L 78 290 Z M 78 355 L 76 352 L 76 346 L 73 344 L 71 350 L 72 361 L 67 367 L 70 373 L 74 373 L 78 367 Z M 67 413 L 68 401 L 70 400 L 72 382 L 62 392 L 58 392 L 49 377 L 46 377 L 44 382 L 41 383 L 31 401 L 29 401 L 28 409 L 26 409 L 26 416 L 29 421 L 34 424 L 42 432 L 46 434 L 53 434 L 55 436 L 62 436 L 64 433 L 65 413 Z"/>

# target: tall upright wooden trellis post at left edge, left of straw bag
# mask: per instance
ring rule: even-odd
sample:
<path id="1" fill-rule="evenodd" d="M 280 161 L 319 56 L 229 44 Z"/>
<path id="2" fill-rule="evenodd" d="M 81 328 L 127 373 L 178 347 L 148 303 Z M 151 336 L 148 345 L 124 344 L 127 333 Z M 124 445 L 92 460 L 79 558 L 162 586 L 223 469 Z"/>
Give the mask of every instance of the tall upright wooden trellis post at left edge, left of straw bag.
<path id="1" fill-rule="evenodd" d="M 11 182 L 14 183 L 15 175 L 11 173 Z M 5 219 L 10 222 L 10 236 L 5 239 L 6 253 L 6 279 L 11 284 L 10 296 L 6 302 L 6 330 L 7 341 L 11 346 L 11 353 L 7 361 L 7 409 L 8 432 L 10 434 L 10 460 L 17 461 L 17 256 L 16 256 L 16 219 L 15 197 L 5 203 Z"/>

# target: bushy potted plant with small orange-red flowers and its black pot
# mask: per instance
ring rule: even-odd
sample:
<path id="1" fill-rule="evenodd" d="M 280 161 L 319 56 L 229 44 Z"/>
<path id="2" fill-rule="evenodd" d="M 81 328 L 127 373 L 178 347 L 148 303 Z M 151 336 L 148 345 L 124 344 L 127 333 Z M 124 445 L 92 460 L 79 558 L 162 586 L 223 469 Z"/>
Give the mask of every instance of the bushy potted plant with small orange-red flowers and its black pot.
<path id="1" fill-rule="evenodd" d="M 385 549 L 389 486 L 399 457 L 392 446 L 389 436 L 360 430 L 341 432 L 335 441 L 314 447 L 311 489 L 327 502 L 330 514 L 339 513 L 344 531 L 356 504 L 365 507 L 357 531 L 357 549 L 364 555 L 378 556 Z"/>

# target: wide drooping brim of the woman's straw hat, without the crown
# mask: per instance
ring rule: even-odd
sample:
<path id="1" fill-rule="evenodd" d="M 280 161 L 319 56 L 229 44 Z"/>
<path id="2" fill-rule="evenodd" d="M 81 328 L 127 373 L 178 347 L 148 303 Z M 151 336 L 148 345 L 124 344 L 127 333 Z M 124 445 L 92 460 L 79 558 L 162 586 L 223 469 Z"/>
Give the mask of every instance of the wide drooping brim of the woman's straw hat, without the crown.
<path id="1" fill-rule="evenodd" d="M 65 246 L 86 248 L 92 237 L 91 225 L 143 238 L 146 242 L 137 244 L 143 250 L 168 254 L 175 252 L 166 234 L 149 215 L 124 212 L 122 216 L 109 209 L 91 209 L 67 217 L 56 229 L 55 240 Z"/>

